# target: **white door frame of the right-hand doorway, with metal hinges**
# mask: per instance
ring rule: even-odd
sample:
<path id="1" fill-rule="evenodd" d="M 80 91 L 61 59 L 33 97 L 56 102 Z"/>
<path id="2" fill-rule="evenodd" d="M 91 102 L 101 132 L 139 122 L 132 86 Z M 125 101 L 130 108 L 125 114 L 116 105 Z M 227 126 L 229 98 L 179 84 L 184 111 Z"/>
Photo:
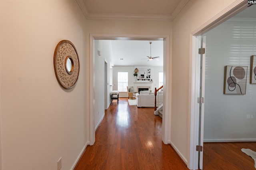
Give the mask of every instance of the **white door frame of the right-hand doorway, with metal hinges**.
<path id="1" fill-rule="evenodd" d="M 188 158 L 188 168 L 191 170 L 198 169 L 198 151 L 196 151 L 196 145 L 198 145 L 199 137 L 199 104 L 197 103 L 197 98 L 200 95 L 200 55 L 198 55 L 198 49 L 200 48 L 200 36 L 206 32 L 212 30 L 212 28 L 222 24 L 224 21 L 228 20 L 232 16 L 238 14 L 242 10 L 246 9 L 248 2 L 246 0 L 237 0 L 226 9 L 222 10 L 214 18 L 204 23 L 202 26 L 194 30 L 190 34 L 190 126 L 189 126 L 189 158 Z M 207 49 L 206 49 L 207 50 Z M 203 83 L 204 85 L 204 83 Z M 204 89 L 204 87 L 203 87 Z M 202 119 L 204 113 L 202 112 Z M 204 132 L 204 120 L 201 120 L 201 131 Z M 203 146 L 204 134 L 201 134 L 201 145 Z M 202 155 L 202 154 L 201 154 Z M 203 157 L 200 156 L 200 168 L 202 168 Z"/>

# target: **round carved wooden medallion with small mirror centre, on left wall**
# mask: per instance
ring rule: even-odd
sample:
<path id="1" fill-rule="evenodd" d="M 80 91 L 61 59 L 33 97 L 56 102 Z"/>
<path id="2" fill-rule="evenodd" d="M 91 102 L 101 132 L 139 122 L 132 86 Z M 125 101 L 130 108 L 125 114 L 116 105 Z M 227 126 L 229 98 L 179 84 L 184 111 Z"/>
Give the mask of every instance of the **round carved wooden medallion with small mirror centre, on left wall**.
<path id="1" fill-rule="evenodd" d="M 71 89 L 79 75 L 79 58 L 74 44 L 68 40 L 58 43 L 54 51 L 54 71 L 60 85 Z"/>

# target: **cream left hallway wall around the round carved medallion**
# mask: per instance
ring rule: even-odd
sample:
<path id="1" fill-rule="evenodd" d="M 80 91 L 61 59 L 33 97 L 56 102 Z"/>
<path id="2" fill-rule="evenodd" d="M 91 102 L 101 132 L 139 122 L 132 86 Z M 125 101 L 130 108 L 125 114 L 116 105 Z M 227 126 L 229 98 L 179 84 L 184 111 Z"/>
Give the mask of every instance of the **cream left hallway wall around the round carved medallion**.
<path id="1" fill-rule="evenodd" d="M 1 0 L 2 170 L 72 168 L 88 142 L 86 19 L 70 0 Z M 54 73 L 54 49 L 70 40 L 80 59 L 73 89 Z"/>

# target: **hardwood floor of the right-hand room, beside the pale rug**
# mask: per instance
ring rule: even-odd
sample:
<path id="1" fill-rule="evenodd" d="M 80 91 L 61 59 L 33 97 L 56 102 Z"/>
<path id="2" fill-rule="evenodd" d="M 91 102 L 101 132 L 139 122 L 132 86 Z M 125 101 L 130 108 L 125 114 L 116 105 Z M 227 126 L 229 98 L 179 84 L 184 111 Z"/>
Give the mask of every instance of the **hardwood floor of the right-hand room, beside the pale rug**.
<path id="1" fill-rule="evenodd" d="M 203 170 L 255 170 L 242 148 L 256 151 L 256 142 L 204 143 Z"/>

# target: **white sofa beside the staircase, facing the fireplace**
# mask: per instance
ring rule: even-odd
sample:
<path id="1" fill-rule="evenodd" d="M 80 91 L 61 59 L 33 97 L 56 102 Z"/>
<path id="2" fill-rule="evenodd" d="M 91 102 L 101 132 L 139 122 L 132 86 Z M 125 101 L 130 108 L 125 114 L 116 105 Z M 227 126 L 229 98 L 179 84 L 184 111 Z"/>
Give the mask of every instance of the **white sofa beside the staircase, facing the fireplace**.
<path id="1" fill-rule="evenodd" d="M 161 105 L 162 101 L 163 95 L 156 95 L 156 107 Z M 136 93 L 136 103 L 137 107 L 155 107 L 155 95 L 149 91 L 140 91 L 140 94 Z"/>

